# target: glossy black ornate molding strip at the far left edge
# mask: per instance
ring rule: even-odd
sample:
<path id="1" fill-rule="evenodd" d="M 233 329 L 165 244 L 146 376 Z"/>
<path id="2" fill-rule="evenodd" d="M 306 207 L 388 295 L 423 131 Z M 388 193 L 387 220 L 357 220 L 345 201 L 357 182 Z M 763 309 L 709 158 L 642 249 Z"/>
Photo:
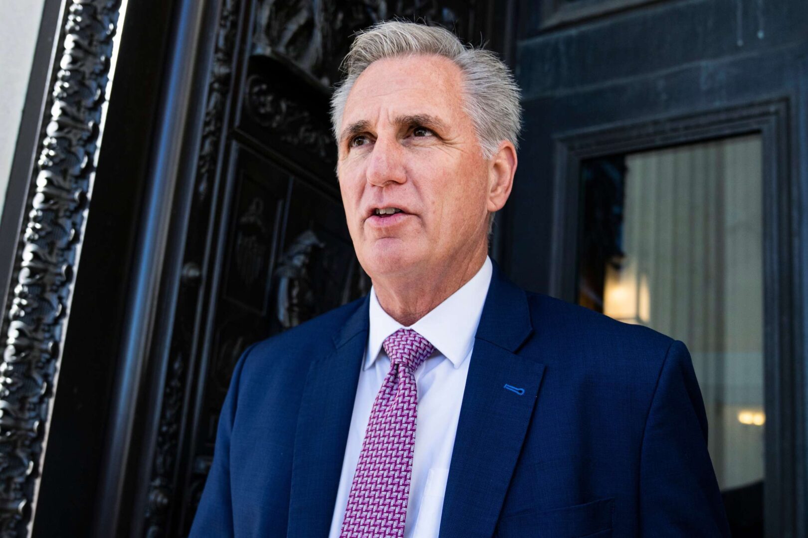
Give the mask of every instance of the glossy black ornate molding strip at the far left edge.
<path id="1" fill-rule="evenodd" d="M 0 536 L 27 536 L 120 0 L 69 0 L 0 364 Z"/>

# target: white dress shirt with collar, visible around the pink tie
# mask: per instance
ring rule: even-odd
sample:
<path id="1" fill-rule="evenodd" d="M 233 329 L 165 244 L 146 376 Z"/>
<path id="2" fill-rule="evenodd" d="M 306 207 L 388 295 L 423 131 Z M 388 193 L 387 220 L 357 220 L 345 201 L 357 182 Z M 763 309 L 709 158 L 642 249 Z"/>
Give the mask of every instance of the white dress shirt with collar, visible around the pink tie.
<path id="1" fill-rule="evenodd" d="M 480 323 L 482 305 L 491 282 L 491 261 L 460 290 L 435 307 L 411 327 L 435 347 L 431 356 L 415 370 L 418 385 L 418 419 L 410 477 L 405 538 L 438 536 L 444 491 L 452 461 L 457 419 L 465 390 L 465 378 Z M 390 369 L 390 359 L 381 344 L 402 328 L 402 324 L 382 310 L 376 292 L 370 290 L 370 331 L 368 345 L 356 387 L 351 428 L 339 477 L 339 490 L 331 519 L 329 538 L 339 538 L 348 494 L 368 427 L 370 411 Z"/>

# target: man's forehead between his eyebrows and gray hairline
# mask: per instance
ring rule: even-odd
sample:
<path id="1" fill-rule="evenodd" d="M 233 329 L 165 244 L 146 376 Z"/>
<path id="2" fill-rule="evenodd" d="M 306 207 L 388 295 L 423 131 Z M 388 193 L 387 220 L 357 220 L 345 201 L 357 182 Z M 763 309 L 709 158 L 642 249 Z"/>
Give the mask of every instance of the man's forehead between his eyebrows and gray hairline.
<path id="1" fill-rule="evenodd" d="M 430 114 L 448 121 L 465 115 L 463 73 L 444 56 L 406 56 L 377 60 L 356 79 L 348 94 L 343 125 L 375 123 L 381 114 Z"/>

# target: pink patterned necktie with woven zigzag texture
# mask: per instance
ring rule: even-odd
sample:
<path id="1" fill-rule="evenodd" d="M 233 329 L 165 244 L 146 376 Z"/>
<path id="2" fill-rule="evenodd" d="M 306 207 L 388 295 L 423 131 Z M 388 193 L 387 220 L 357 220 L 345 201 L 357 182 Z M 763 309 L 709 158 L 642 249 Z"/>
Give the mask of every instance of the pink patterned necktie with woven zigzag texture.
<path id="1" fill-rule="evenodd" d="M 382 345 L 390 371 L 370 411 L 340 538 L 404 536 L 418 415 L 414 374 L 433 347 L 412 329 L 398 329 Z"/>

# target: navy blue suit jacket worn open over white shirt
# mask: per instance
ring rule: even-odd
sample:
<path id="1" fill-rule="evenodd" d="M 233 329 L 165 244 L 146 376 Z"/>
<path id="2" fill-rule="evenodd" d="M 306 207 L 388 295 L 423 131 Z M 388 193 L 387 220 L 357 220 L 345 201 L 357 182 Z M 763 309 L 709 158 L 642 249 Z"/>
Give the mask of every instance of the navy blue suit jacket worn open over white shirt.
<path id="1" fill-rule="evenodd" d="M 328 535 L 367 340 L 364 298 L 243 353 L 192 538 Z M 706 440 L 684 344 L 494 265 L 440 536 L 729 536 Z"/>

